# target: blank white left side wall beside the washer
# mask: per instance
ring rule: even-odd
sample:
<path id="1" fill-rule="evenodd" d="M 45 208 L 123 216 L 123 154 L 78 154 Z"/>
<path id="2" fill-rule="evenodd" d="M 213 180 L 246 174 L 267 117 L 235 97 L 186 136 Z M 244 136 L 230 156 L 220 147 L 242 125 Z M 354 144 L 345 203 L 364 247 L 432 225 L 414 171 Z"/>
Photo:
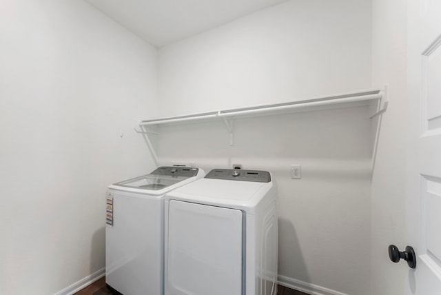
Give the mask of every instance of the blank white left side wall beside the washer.
<path id="1" fill-rule="evenodd" d="M 106 186 L 153 168 L 156 50 L 75 0 L 1 1 L 0 48 L 0 294 L 54 294 L 105 265 Z"/>

